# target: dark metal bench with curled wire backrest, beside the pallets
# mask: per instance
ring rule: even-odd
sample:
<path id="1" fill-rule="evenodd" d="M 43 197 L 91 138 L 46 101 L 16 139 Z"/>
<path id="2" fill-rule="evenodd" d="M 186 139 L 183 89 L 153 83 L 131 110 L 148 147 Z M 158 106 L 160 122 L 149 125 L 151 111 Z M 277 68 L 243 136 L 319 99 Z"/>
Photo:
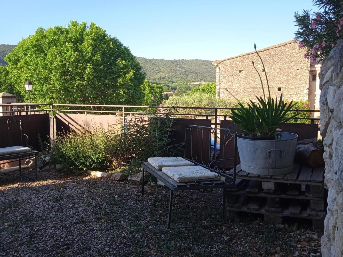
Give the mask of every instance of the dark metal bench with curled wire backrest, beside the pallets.
<path id="1" fill-rule="evenodd" d="M 236 185 L 236 166 L 237 166 L 237 135 L 238 132 L 233 133 L 233 128 L 219 129 L 206 126 L 189 125 L 186 128 L 185 141 L 182 144 L 184 147 L 184 159 L 193 162 L 195 165 L 199 165 L 209 169 L 217 174 L 218 179 L 197 179 L 194 182 L 179 183 L 174 179 L 170 178 L 168 175 L 163 173 L 161 170 L 157 170 L 150 163 L 144 162 L 142 164 L 142 196 L 144 195 L 144 173 L 149 172 L 155 176 L 158 180 L 162 181 L 169 189 L 169 210 L 167 218 L 167 227 L 170 228 L 171 222 L 171 209 L 173 204 L 173 193 L 174 191 L 189 191 L 198 190 L 201 193 L 210 193 L 214 188 L 223 188 L 223 220 L 226 218 L 226 191 L 227 189 L 232 189 Z M 223 138 L 220 139 L 220 145 L 226 144 L 228 140 L 234 140 L 233 157 L 225 158 L 225 152 L 222 152 L 223 158 L 217 159 L 216 154 L 216 143 L 214 146 L 214 154 L 211 154 L 211 139 L 214 135 L 214 142 L 216 142 L 218 132 L 222 132 Z M 180 146 L 177 147 L 179 149 Z M 225 147 L 221 148 L 222 150 Z M 175 153 L 175 152 L 174 152 Z M 174 153 L 171 152 L 173 156 Z M 232 167 L 230 169 L 225 168 L 224 161 L 233 161 Z M 188 167 L 185 167 L 187 169 Z M 231 170 L 231 173 L 227 173 Z M 219 175 L 225 178 L 224 180 L 219 179 Z"/>

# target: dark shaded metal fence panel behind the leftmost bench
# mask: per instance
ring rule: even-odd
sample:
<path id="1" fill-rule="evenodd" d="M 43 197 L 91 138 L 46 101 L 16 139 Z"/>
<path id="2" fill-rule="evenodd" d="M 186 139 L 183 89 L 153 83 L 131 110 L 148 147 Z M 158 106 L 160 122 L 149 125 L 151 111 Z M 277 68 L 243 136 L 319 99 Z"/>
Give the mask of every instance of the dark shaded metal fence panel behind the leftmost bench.
<path id="1" fill-rule="evenodd" d="M 28 144 L 32 146 L 34 150 L 40 150 L 38 134 L 42 137 L 43 141 L 47 141 L 48 136 L 50 136 L 49 114 L 6 116 L 0 118 L 0 147 L 21 145 L 20 124 L 19 122 L 11 122 L 9 123 L 8 129 L 8 118 L 21 121 L 22 133 L 28 136 Z M 23 140 L 25 139 L 23 138 Z"/>

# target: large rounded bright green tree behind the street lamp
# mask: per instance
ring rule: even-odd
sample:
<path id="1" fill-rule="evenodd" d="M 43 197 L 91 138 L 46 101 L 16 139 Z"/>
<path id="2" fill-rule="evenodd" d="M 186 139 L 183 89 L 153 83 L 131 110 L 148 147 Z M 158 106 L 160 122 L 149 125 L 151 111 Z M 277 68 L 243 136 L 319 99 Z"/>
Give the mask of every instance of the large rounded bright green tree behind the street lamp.
<path id="1" fill-rule="evenodd" d="M 140 64 L 94 23 L 38 28 L 5 61 L 11 82 L 26 101 L 27 79 L 34 84 L 31 101 L 37 103 L 119 105 L 143 99 Z"/>

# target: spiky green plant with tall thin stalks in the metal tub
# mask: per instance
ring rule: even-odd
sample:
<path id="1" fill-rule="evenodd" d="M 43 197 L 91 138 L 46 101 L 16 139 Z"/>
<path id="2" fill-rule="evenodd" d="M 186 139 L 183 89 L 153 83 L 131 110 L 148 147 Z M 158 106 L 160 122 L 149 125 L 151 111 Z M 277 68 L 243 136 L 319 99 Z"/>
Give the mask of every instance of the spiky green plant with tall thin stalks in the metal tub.
<path id="1" fill-rule="evenodd" d="M 266 99 L 261 75 L 256 69 L 254 62 L 252 62 L 252 65 L 260 78 L 263 98 L 261 96 L 257 97 L 257 103 L 250 100 L 244 104 L 226 89 L 238 101 L 239 105 L 238 109 L 231 111 L 230 118 L 235 124 L 241 126 L 241 132 L 247 136 L 274 136 L 276 135 L 277 127 L 281 123 L 285 123 L 298 115 L 295 113 L 291 117 L 286 116 L 287 112 L 296 105 L 296 102 L 291 101 L 290 103 L 285 103 L 282 99 L 282 93 L 279 101 L 277 101 L 277 99 L 274 100 L 271 97 L 267 72 L 264 68 L 262 58 L 256 50 L 256 44 L 254 44 L 254 48 L 263 66 L 268 88 L 268 97 Z"/>

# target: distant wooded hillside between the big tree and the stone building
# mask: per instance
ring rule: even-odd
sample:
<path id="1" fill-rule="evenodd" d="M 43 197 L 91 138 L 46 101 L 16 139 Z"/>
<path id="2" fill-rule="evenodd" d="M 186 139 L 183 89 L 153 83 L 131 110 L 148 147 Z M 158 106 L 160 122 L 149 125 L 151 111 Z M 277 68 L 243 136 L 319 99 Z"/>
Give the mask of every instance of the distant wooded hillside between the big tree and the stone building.
<path id="1" fill-rule="evenodd" d="M 146 79 L 155 83 L 214 82 L 215 69 L 209 60 L 164 60 L 136 57 Z"/>

